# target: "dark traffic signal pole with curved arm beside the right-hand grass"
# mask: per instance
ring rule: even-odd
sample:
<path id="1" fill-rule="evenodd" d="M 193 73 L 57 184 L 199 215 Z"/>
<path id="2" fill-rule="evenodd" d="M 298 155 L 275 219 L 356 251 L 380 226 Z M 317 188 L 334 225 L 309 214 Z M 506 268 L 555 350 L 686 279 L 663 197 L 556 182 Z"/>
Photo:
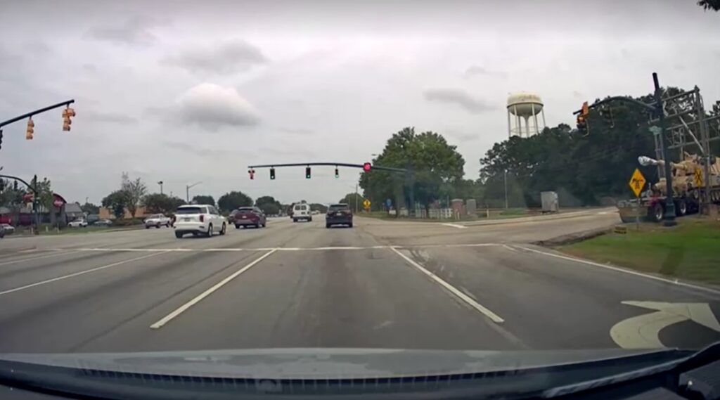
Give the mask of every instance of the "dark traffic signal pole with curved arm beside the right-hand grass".
<path id="1" fill-rule="evenodd" d="M 667 140 L 665 138 L 665 107 L 663 106 L 664 101 L 675 99 L 680 96 L 684 96 L 685 93 L 676 94 L 670 96 L 667 99 L 662 99 L 662 89 L 660 88 L 660 82 L 657 79 L 657 73 L 652 73 L 652 83 L 654 86 L 654 103 L 645 104 L 642 101 L 633 99 L 626 96 L 612 96 L 607 99 L 598 101 L 588 106 L 588 108 L 595 108 L 597 106 L 610 103 L 611 101 L 629 101 L 630 103 L 642 106 L 644 109 L 649 110 L 657 114 L 657 123 L 660 125 L 660 146 L 662 148 L 662 159 L 665 160 L 665 214 L 662 216 L 662 224 L 666 227 L 675 226 L 678 222 L 675 221 L 675 201 L 672 200 L 672 168 L 670 168 L 670 159 L 668 158 L 669 150 L 667 149 Z M 582 109 L 579 109 L 572 114 L 580 114 Z"/>

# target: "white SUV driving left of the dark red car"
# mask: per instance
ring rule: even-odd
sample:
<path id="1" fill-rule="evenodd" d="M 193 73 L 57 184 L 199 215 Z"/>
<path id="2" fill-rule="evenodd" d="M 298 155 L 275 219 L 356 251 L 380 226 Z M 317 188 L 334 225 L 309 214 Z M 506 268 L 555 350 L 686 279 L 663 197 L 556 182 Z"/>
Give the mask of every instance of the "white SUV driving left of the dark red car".
<path id="1" fill-rule="evenodd" d="M 220 215 L 215 206 L 207 204 L 191 204 L 179 206 L 175 212 L 175 237 L 181 238 L 186 233 L 193 236 L 212 236 L 215 233 L 225 235 L 228 221 Z"/>

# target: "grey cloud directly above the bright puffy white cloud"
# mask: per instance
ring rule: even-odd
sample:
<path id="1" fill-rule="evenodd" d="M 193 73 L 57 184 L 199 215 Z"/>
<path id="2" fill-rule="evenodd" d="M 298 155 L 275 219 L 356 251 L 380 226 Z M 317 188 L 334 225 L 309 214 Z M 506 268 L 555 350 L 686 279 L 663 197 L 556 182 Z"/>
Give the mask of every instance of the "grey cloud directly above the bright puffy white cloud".
<path id="1" fill-rule="evenodd" d="M 245 40 L 230 40 L 212 46 L 193 47 L 164 58 L 161 63 L 175 65 L 194 73 L 230 74 L 247 71 L 267 58 L 258 47 Z"/>

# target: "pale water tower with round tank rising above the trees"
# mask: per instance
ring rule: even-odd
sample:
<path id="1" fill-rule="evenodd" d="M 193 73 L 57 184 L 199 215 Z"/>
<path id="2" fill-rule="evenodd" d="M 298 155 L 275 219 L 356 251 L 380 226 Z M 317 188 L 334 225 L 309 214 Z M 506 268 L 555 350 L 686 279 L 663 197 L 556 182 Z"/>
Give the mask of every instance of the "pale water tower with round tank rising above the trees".
<path id="1" fill-rule="evenodd" d="M 542 115 L 542 127 L 538 124 Z M 525 123 L 523 124 L 523 119 Z M 542 99 L 528 91 L 518 91 L 508 96 L 508 137 L 530 137 L 545 128 L 545 110 Z"/>

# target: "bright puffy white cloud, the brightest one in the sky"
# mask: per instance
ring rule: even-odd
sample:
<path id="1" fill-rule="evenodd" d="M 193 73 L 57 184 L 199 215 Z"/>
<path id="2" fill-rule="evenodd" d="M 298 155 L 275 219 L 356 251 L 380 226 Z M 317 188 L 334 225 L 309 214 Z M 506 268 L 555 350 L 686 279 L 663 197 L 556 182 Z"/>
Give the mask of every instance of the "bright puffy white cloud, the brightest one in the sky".
<path id="1" fill-rule="evenodd" d="M 223 126 L 249 126 L 260 122 L 255 107 L 240 96 L 235 88 L 214 83 L 201 83 L 190 88 L 176 101 L 174 112 L 182 121 L 210 130 Z"/>

